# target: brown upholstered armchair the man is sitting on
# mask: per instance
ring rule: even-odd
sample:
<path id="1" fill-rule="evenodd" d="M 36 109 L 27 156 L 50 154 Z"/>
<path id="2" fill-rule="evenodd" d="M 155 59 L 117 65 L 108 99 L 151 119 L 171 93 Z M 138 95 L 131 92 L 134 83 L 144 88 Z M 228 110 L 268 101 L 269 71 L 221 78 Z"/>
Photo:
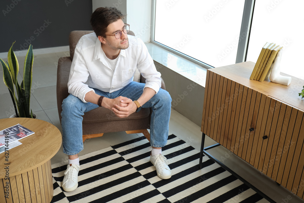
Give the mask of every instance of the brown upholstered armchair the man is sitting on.
<path id="1" fill-rule="evenodd" d="M 58 60 L 57 69 L 57 107 L 59 120 L 61 123 L 62 101 L 69 95 L 67 89 L 67 82 L 71 69 L 72 60 L 74 57 L 74 50 L 78 40 L 85 34 L 92 33 L 93 31 L 72 31 L 69 36 L 70 42 L 70 57 L 61 57 Z M 133 36 L 134 33 L 129 31 L 128 34 Z M 139 72 L 137 74 L 140 74 Z M 142 75 L 137 75 L 140 82 L 145 83 Z M 136 78 L 134 76 L 134 78 Z M 134 79 L 135 80 L 135 79 Z M 164 81 L 161 81 L 161 88 L 165 89 Z M 94 110 L 86 112 L 82 117 L 82 140 L 88 138 L 100 137 L 107 132 L 126 131 L 130 133 L 143 133 L 150 141 L 150 134 L 147 129 L 150 129 L 150 115 L 152 110 L 142 108 L 140 112 L 133 113 L 127 118 L 118 118 L 109 109 L 98 107 Z"/>

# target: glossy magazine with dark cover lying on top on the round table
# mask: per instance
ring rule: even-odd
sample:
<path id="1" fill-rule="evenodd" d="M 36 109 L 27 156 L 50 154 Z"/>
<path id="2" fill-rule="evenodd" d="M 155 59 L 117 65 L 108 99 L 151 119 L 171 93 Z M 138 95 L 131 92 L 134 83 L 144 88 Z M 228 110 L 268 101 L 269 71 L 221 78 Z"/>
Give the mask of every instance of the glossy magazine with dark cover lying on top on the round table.
<path id="1" fill-rule="evenodd" d="M 22 138 L 33 135 L 34 132 L 23 127 L 20 124 L 14 125 L 10 128 L 6 128 L 0 131 L 0 147 L 6 144 L 11 144 L 16 140 L 21 140 Z"/>

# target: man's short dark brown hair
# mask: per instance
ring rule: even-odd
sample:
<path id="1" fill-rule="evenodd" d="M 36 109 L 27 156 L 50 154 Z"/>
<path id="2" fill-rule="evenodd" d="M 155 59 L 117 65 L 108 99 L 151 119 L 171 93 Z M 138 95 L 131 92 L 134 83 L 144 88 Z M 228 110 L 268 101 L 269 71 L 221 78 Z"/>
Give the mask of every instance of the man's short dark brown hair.
<path id="1" fill-rule="evenodd" d="M 106 37 L 105 33 L 107 32 L 108 25 L 124 17 L 125 15 L 115 7 L 100 7 L 91 15 L 90 23 L 97 37 Z"/>

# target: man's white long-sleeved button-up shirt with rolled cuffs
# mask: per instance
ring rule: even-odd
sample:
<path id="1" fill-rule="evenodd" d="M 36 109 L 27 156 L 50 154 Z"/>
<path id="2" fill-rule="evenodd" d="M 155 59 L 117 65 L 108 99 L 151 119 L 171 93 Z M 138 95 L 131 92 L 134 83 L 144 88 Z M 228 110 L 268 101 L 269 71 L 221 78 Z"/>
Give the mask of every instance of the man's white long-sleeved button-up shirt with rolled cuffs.
<path id="1" fill-rule="evenodd" d="M 157 72 L 146 45 L 137 37 L 128 35 L 129 47 L 120 50 L 115 70 L 110 68 L 95 33 L 81 37 L 76 45 L 71 65 L 69 93 L 83 102 L 85 94 L 94 91 L 112 93 L 133 81 L 136 68 L 146 79 L 145 88 L 157 93 L 161 87 L 161 74 Z"/>

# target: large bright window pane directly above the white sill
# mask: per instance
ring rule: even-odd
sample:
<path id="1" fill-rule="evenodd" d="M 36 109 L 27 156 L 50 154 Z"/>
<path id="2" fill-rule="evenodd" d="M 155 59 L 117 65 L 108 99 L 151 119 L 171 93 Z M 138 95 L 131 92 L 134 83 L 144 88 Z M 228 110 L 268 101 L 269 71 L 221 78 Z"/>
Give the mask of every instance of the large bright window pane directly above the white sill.
<path id="1" fill-rule="evenodd" d="M 156 1 L 154 40 L 213 67 L 236 61 L 244 0 Z"/>

